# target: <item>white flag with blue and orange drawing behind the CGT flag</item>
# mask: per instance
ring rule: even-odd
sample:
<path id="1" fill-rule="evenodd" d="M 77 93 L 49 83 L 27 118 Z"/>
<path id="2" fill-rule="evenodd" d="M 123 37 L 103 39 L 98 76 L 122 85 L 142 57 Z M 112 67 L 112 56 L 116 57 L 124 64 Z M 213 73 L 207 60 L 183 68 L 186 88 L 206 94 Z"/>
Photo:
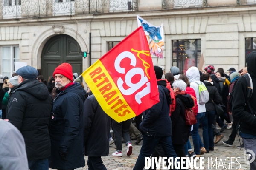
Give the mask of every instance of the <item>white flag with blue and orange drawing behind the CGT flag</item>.
<path id="1" fill-rule="evenodd" d="M 163 58 L 164 49 L 164 34 L 163 24 L 161 26 L 154 26 L 142 17 L 137 15 L 138 27 L 142 26 L 148 39 L 148 45 L 151 55 Z"/>

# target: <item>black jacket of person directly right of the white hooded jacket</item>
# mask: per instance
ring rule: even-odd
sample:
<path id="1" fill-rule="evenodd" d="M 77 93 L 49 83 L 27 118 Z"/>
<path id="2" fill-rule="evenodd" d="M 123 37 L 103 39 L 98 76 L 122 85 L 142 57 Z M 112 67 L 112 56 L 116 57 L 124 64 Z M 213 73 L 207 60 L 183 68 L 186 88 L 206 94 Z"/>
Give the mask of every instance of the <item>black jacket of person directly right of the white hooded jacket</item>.
<path id="1" fill-rule="evenodd" d="M 209 101 L 205 104 L 206 111 L 215 111 L 215 106 L 212 101 L 216 102 L 217 104 L 221 103 L 221 95 L 218 93 L 217 88 L 210 82 L 204 81 L 204 85 L 209 92 Z"/>

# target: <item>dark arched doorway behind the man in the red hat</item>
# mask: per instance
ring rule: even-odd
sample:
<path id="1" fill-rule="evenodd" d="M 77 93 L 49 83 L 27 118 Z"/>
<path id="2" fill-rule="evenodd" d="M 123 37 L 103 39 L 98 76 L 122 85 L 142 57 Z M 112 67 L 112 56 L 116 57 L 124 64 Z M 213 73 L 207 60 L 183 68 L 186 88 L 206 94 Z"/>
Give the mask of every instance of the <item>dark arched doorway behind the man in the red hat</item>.
<path id="1" fill-rule="evenodd" d="M 48 81 L 55 68 L 63 62 L 72 65 L 73 73 L 82 73 L 83 60 L 81 48 L 75 39 L 61 34 L 52 37 L 44 45 L 41 55 L 41 73 Z"/>

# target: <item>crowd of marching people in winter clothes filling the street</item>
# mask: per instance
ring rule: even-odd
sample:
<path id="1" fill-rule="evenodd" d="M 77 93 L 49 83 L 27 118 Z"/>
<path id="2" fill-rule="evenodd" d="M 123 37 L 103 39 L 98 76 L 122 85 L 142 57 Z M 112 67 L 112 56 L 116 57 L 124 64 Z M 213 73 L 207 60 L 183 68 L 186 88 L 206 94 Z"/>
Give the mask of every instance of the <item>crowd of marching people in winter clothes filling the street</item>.
<path id="1" fill-rule="evenodd" d="M 109 155 L 109 145 L 115 144 L 112 156 L 119 157 L 125 143 L 126 155 L 130 156 L 132 140 L 136 140 L 134 144 L 143 143 L 134 170 L 143 170 L 145 157 L 174 160 L 209 153 L 229 128 L 229 139 L 222 144 L 232 147 L 239 132 L 243 144 L 237 147 L 256 153 L 256 95 L 252 94 L 256 52 L 248 54 L 246 62 L 248 68 L 230 68 L 228 75 L 223 68 L 215 71 L 213 65 L 201 71 L 191 67 L 182 74 L 175 66 L 169 73 L 154 66 L 160 102 L 120 123 L 103 111 L 88 86 L 85 91 L 81 81 L 73 82 L 78 75 L 73 74 L 70 64 L 59 65 L 48 83 L 35 68 L 20 68 L 12 78 L 5 77 L 0 88 L 5 120 L 0 121 L 0 126 L 6 130 L 0 130 L 0 144 L 6 147 L 0 150 L 0 156 L 5 155 L 0 167 L 73 170 L 84 167 L 84 156 L 88 156 L 89 170 L 106 170 L 101 157 Z M 132 134 L 135 138 L 131 138 Z M 256 169 L 255 160 L 250 167 Z"/>

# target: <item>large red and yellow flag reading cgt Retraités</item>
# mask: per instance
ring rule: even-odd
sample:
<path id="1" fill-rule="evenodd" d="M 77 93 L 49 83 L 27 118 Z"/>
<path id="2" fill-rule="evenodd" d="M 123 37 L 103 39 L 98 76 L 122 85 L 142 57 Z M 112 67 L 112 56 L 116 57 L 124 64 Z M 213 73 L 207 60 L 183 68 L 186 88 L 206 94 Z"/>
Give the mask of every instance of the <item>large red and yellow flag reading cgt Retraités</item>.
<path id="1" fill-rule="evenodd" d="M 117 122 L 159 102 L 157 80 L 142 27 L 82 73 L 102 109 Z"/>

